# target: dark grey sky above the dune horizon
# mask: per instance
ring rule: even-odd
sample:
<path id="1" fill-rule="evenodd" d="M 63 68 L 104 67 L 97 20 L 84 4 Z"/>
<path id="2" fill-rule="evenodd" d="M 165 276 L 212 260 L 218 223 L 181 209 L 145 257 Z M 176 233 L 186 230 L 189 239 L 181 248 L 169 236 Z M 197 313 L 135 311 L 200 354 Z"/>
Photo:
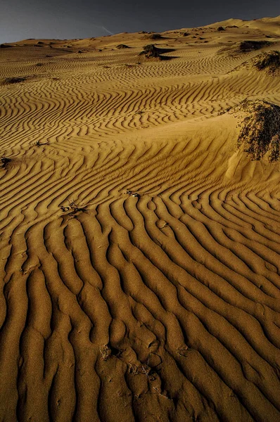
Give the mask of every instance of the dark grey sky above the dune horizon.
<path id="1" fill-rule="evenodd" d="M 161 32 L 277 15 L 279 0 L 0 0 L 0 43 Z"/>

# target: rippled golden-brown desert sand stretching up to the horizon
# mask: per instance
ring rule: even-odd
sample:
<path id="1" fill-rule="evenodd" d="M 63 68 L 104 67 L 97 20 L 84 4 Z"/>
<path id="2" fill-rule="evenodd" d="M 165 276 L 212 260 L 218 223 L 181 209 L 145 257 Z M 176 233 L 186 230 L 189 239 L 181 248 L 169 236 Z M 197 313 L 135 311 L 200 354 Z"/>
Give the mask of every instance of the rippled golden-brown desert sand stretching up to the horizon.
<path id="1" fill-rule="evenodd" d="M 279 420 L 277 22 L 1 48 L 1 421 Z"/>

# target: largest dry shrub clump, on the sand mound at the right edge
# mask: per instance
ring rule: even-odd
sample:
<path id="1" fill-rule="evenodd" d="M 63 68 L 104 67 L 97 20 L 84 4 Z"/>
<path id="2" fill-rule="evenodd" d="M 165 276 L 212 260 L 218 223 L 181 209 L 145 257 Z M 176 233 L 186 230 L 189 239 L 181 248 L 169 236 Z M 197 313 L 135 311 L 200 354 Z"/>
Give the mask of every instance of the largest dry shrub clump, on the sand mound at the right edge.
<path id="1" fill-rule="evenodd" d="M 268 153 L 269 162 L 280 157 L 280 107 L 267 101 L 244 100 L 231 108 L 230 113 L 241 111 L 246 117 L 241 124 L 238 147 L 250 155 L 252 160 L 260 160 Z"/>

